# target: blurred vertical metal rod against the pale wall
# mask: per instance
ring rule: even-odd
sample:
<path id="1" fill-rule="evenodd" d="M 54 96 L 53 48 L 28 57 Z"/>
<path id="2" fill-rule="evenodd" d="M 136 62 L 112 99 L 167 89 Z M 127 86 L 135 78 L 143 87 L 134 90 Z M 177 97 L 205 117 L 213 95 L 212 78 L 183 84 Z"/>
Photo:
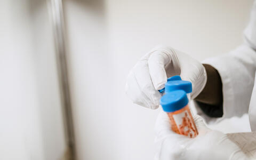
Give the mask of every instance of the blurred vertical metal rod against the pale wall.
<path id="1" fill-rule="evenodd" d="M 65 124 L 66 142 L 68 146 L 68 153 L 65 159 L 73 160 L 75 158 L 75 137 L 73 117 L 71 110 L 70 90 L 68 82 L 68 68 L 67 68 L 67 52 L 65 47 L 65 23 L 63 20 L 63 6 L 62 0 L 48 0 L 49 9 L 51 13 L 53 34 L 55 39 L 55 53 L 58 66 L 61 105 L 63 111 L 63 119 Z"/>

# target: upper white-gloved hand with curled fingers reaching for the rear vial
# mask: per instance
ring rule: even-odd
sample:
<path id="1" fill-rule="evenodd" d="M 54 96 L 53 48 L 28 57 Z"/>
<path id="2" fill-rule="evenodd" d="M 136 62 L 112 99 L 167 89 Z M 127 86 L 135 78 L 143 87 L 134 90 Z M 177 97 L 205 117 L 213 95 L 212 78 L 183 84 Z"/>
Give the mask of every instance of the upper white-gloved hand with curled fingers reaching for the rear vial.
<path id="1" fill-rule="evenodd" d="M 134 103 L 156 109 L 161 98 L 158 90 L 163 89 L 167 78 L 174 75 L 192 83 L 192 99 L 204 89 L 206 71 L 199 61 L 171 47 L 157 46 L 130 71 L 126 93 Z"/>

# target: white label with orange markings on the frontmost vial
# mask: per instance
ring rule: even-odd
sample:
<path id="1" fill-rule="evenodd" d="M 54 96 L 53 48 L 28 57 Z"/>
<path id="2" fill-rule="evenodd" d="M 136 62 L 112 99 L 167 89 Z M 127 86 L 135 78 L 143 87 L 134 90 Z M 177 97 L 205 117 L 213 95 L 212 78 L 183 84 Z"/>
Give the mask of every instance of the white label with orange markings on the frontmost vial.
<path id="1" fill-rule="evenodd" d="M 173 119 L 178 127 L 180 134 L 194 138 L 197 135 L 197 131 L 194 120 L 191 118 L 191 114 L 189 114 L 188 110 L 184 110 L 179 114 L 173 114 Z"/>

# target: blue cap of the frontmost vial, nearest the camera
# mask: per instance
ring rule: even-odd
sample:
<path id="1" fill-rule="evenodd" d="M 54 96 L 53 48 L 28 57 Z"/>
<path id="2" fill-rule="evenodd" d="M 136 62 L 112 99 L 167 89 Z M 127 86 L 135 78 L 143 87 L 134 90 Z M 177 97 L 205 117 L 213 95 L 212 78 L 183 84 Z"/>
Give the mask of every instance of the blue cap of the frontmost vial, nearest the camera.
<path id="1" fill-rule="evenodd" d="M 166 112 L 180 110 L 188 104 L 187 94 L 182 90 L 169 92 L 163 95 L 160 104 Z"/>

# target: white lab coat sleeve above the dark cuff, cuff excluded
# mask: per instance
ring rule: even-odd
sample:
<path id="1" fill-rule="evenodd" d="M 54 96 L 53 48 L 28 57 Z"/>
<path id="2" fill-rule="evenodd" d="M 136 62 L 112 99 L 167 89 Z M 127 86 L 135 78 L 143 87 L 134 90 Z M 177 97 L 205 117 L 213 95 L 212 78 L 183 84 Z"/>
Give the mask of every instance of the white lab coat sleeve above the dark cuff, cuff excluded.
<path id="1" fill-rule="evenodd" d="M 256 52 L 252 47 L 244 44 L 203 63 L 213 66 L 220 74 L 223 94 L 222 118 L 248 113 L 256 70 Z"/>

